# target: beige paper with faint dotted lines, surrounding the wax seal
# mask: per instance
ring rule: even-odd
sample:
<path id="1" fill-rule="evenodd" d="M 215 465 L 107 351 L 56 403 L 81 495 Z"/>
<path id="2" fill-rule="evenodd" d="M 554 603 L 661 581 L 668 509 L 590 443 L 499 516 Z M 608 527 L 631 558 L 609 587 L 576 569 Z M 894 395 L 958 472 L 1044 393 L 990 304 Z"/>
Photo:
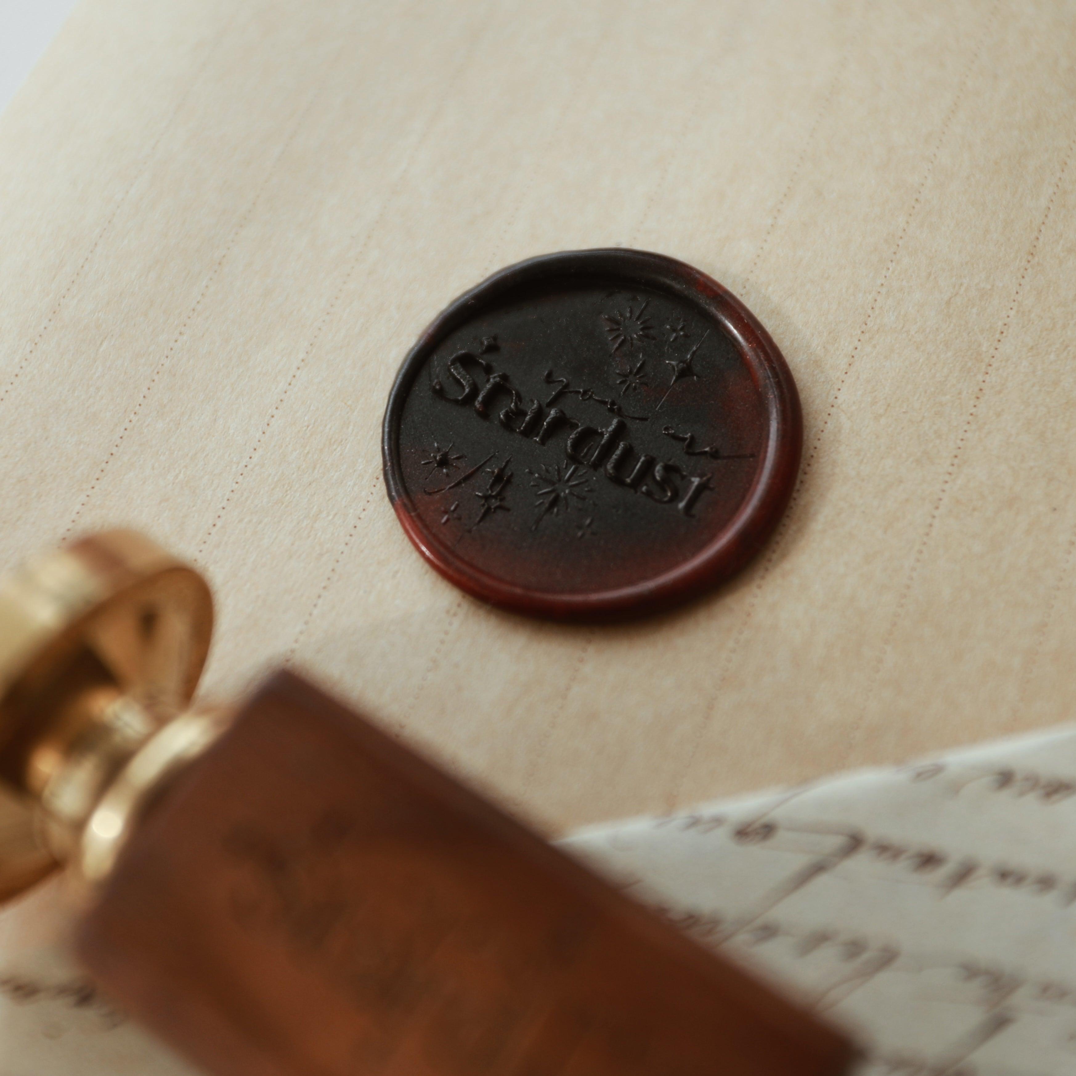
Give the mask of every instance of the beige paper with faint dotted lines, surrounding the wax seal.
<path id="1" fill-rule="evenodd" d="M 0 562 L 132 525 L 553 829 L 1071 714 L 1076 8 L 86 0 L 0 117 Z M 528 622 L 396 524 L 381 416 L 498 267 L 731 287 L 806 444 L 736 582 Z"/>

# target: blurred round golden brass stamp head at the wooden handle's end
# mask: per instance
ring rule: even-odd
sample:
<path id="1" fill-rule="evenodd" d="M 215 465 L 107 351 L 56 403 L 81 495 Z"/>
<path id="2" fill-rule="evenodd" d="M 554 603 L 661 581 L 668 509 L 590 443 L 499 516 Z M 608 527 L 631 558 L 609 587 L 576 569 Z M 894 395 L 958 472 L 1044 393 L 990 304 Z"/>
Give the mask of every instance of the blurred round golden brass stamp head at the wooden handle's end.
<path id="1" fill-rule="evenodd" d="M 190 702 L 212 624 L 202 577 L 129 530 L 0 579 L 0 898 L 82 843 L 107 790 Z"/>

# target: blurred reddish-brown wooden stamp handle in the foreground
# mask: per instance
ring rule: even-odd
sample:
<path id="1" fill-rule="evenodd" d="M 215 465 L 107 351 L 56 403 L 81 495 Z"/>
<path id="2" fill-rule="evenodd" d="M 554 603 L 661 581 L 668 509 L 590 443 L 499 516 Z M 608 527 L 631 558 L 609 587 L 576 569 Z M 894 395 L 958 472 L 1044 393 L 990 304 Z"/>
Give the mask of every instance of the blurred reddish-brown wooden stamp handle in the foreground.
<path id="1" fill-rule="evenodd" d="M 852 1057 L 288 672 L 146 817 L 80 952 L 218 1076 L 836 1076 Z"/>

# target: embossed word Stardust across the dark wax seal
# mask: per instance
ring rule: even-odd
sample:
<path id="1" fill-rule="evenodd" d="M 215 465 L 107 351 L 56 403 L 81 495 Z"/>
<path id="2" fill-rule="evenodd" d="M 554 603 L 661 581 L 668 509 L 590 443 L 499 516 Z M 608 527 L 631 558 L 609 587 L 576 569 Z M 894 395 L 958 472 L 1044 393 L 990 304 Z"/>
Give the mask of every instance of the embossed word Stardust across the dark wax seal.
<path id="1" fill-rule="evenodd" d="M 479 387 L 475 378 L 468 373 L 467 365 L 478 367 L 485 374 L 485 384 Z M 555 433 L 570 430 L 564 445 L 565 454 L 570 461 L 600 470 L 610 482 L 634 493 L 641 493 L 659 505 L 675 502 L 684 515 L 694 516 L 693 509 L 699 497 L 711 489 L 709 475 L 688 475 L 674 463 L 635 452 L 631 441 L 621 439 L 626 426 L 619 415 L 614 414 L 609 425 L 601 428 L 583 425 L 562 408 L 550 406 L 558 393 L 553 394 L 546 407 L 536 399 L 524 407 L 523 397 L 512 385 L 509 376 L 496 370 L 487 358 L 470 351 L 456 352 L 445 367 L 458 386 L 459 394 L 449 395 L 441 379 L 435 378 L 430 382 L 435 396 L 461 407 L 472 404 L 475 413 L 485 420 L 495 410 L 495 401 L 499 405 L 507 400 L 508 406 L 497 414 L 497 422 L 509 433 L 528 437 L 542 445 Z M 593 394 L 587 398 L 597 400 Z M 615 404 L 605 400 L 599 402 L 619 410 Z M 638 456 L 634 464 L 633 456 Z"/>

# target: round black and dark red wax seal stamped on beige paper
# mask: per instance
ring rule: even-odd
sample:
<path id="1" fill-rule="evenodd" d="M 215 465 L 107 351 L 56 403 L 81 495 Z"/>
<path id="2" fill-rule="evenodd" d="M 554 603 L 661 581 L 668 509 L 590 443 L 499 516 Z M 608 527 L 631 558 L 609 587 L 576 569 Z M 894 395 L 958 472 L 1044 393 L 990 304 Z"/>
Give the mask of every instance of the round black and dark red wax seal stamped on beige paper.
<path id="1" fill-rule="evenodd" d="M 608 619 L 683 601 L 759 551 L 803 429 L 749 310 L 643 251 L 550 254 L 461 296 L 388 399 L 388 495 L 476 597 Z"/>

